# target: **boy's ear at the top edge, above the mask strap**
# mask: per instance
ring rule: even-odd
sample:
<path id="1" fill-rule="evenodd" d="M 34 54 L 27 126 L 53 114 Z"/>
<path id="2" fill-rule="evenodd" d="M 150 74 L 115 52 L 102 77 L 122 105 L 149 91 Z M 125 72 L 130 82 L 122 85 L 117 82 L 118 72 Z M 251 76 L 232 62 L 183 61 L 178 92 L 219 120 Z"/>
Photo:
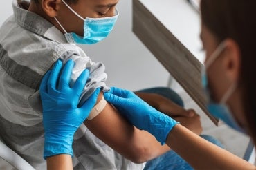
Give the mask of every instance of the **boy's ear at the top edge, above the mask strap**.
<path id="1" fill-rule="evenodd" d="M 41 6 L 48 17 L 57 16 L 61 0 L 42 0 Z"/>

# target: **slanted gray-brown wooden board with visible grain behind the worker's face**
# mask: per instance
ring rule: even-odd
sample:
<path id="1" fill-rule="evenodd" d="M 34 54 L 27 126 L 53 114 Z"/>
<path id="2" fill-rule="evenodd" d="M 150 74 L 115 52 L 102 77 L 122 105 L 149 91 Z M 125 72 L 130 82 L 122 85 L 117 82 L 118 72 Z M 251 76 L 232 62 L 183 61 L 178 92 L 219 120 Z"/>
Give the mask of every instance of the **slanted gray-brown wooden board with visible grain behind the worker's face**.
<path id="1" fill-rule="evenodd" d="M 133 31 L 210 120 L 218 125 L 219 120 L 210 115 L 205 106 L 201 62 L 138 0 L 133 0 Z"/>

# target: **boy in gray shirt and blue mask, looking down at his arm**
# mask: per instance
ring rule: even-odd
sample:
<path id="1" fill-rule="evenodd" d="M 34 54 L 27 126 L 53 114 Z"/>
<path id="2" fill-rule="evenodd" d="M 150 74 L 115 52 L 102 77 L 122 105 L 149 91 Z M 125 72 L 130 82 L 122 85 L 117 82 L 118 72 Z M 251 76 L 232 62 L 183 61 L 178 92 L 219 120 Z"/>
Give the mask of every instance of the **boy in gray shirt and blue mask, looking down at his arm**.
<path id="1" fill-rule="evenodd" d="M 117 3 L 118 0 L 12 2 L 14 15 L 0 30 L 0 133 L 36 169 L 46 167 L 42 158 L 44 129 L 38 92 L 42 75 L 57 59 L 73 59 L 73 80 L 85 68 L 90 71 L 81 102 L 98 87 L 107 91 L 104 65 L 92 62 L 75 44 L 94 44 L 107 37 L 118 17 Z M 166 100 L 160 95 L 140 96 L 153 106 Z M 170 105 L 170 101 L 166 103 Z M 176 105 L 171 103 L 172 106 Z M 194 117 L 197 122 L 198 119 Z M 73 142 L 74 169 L 143 169 L 143 164 L 133 162 L 146 162 L 170 151 L 149 133 L 131 126 L 111 104 L 104 104 L 100 114 L 95 113 L 84 124 Z M 201 132 L 200 123 L 196 132 Z"/>

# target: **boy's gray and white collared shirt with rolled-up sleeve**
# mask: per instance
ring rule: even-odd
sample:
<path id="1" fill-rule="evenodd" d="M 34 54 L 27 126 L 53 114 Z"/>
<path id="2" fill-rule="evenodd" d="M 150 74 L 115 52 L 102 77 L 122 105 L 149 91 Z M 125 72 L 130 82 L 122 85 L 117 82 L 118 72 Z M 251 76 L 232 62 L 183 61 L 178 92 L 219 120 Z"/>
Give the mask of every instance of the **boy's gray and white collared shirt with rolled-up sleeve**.
<path id="1" fill-rule="evenodd" d="M 51 23 L 12 2 L 12 15 L 0 28 L 0 134 L 3 140 L 36 169 L 43 159 L 44 129 L 39 83 L 57 59 L 75 61 L 72 82 L 85 68 L 90 71 L 81 102 L 95 88 L 109 90 L 104 65 L 92 62 L 81 48 L 68 44 Z M 117 139 L 118 140 L 118 139 Z M 82 125 L 73 144 L 75 169 L 142 169 L 113 151 Z"/>

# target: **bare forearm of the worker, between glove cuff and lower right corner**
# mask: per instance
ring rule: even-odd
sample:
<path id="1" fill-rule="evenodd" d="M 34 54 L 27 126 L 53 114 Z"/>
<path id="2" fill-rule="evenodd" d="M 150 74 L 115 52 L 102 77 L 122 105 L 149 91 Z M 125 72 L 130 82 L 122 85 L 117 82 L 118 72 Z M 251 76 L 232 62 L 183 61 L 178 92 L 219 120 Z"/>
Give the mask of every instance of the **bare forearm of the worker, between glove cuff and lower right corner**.
<path id="1" fill-rule="evenodd" d="M 170 131 L 166 143 L 194 169 L 256 169 L 253 164 L 194 135 L 179 124 Z"/>

